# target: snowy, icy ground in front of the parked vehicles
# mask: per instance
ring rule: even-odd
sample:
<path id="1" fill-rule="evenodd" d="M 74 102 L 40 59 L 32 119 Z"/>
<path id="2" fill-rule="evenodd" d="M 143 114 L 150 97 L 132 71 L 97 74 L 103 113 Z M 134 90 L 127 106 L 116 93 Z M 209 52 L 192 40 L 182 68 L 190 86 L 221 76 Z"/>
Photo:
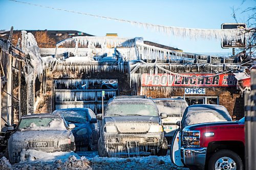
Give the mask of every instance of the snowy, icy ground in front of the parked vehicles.
<path id="1" fill-rule="evenodd" d="M 169 154 L 131 158 L 101 158 L 96 151 L 52 154 L 31 150 L 25 154 L 28 154 L 28 160 L 16 164 L 1 158 L 0 169 L 186 169 L 174 166 Z"/>

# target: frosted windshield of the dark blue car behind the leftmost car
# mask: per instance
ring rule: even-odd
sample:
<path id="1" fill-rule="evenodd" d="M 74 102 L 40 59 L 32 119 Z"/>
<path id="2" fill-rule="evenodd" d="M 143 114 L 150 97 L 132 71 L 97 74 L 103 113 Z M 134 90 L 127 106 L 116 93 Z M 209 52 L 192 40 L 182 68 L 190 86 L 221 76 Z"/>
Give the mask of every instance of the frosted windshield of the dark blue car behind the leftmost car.
<path id="1" fill-rule="evenodd" d="M 87 123 L 88 111 L 84 109 L 59 109 L 54 110 L 53 114 L 61 114 L 70 123 Z"/>

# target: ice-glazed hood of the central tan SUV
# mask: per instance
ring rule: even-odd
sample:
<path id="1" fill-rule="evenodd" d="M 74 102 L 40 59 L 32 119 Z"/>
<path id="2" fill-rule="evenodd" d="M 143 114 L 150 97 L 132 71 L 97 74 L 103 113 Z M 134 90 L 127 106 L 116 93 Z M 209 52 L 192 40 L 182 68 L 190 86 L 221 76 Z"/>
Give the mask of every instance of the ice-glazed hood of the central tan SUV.
<path id="1" fill-rule="evenodd" d="M 151 125 L 160 125 L 157 116 L 104 117 L 106 126 L 116 126 L 119 133 L 147 133 Z"/>

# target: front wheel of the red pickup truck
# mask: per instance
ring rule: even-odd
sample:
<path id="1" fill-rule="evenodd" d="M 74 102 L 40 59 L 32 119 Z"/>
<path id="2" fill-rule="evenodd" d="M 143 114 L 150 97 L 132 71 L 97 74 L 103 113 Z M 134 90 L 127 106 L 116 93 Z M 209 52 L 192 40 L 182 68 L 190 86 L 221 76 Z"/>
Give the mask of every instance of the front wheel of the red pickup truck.
<path id="1" fill-rule="evenodd" d="M 210 157 L 208 169 L 243 170 L 243 162 L 237 153 L 230 150 L 220 150 Z"/>

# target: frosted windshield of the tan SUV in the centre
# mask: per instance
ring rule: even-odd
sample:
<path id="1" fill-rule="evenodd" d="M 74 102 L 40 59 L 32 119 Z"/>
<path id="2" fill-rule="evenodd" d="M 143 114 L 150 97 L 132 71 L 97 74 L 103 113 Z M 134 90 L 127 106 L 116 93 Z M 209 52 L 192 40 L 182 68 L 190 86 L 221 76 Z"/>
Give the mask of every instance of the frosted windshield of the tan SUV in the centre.
<path id="1" fill-rule="evenodd" d="M 159 114 L 153 102 L 124 100 L 109 103 L 104 116 L 159 116 Z"/>

